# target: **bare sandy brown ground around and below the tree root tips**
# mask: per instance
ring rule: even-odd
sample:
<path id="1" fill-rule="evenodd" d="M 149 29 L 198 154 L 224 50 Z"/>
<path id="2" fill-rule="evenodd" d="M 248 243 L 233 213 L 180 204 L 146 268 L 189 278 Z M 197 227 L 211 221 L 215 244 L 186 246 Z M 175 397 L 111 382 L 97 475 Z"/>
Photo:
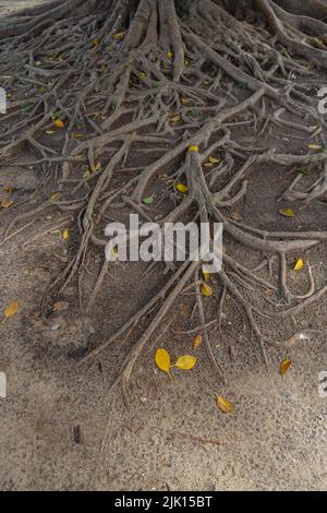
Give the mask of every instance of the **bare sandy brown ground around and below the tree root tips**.
<path id="1" fill-rule="evenodd" d="M 244 206 L 242 215 L 250 223 L 254 210 L 263 225 L 277 222 L 270 212 L 280 191 L 272 187 L 270 171 L 261 171 Z M 278 178 L 282 182 L 282 176 Z M 2 166 L 0 186 L 9 182 L 23 199 L 37 176 L 34 169 Z M 1 227 L 11 215 L 1 214 Z M 313 207 L 299 223 L 313 226 L 317 218 L 326 224 L 324 211 Z M 230 305 L 223 337 L 216 339 L 217 355 L 227 369 L 225 387 L 203 349 L 196 368 L 175 372 L 172 382 L 156 370 L 158 345 L 173 357 L 191 348 L 192 336 L 168 332 L 137 365 L 129 413 L 120 391 L 109 394 L 109 387 L 131 341 L 122 339 L 89 366 L 77 368 L 76 359 L 144 305 L 162 278 L 145 278 L 141 264 L 118 266 L 90 319 L 78 314 L 72 286 L 60 298 L 71 308 L 41 321 L 37 311 L 43 293 L 62 269 L 55 253 L 70 252 L 75 243 L 73 230 L 66 243 L 58 236 L 56 230 L 65 226 L 68 217 L 45 215 L 0 246 L 0 309 L 20 301 L 19 314 L 0 329 L 0 371 L 8 378 L 8 397 L 0 399 L 0 488 L 326 490 L 327 399 L 318 396 L 318 373 L 327 370 L 326 298 L 290 326 L 289 334 L 305 330 L 310 339 L 291 351 L 269 350 L 268 370 Z M 325 250 L 320 247 L 305 255 L 322 283 L 327 272 Z M 187 329 L 187 308 L 175 308 L 174 327 Z M 282 380 L 279 363 L 287 357 L 292 367 Z M 217 393 L 233 402 L 233 415 L 217 408 Z"/>

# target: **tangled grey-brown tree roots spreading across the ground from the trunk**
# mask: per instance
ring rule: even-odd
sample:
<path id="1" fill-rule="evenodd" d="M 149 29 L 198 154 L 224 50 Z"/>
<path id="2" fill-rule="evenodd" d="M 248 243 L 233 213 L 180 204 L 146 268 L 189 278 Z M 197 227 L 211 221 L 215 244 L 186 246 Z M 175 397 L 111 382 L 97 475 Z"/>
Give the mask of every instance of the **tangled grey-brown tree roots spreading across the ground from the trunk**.
<path id="1" fill-rule="evenodd" d="M 289 255 L 318 244 L 327 232 L 269 231 L 231 214 L 255 183 L 258 166 L 267 163 L 288 170 L 314 168 L 314 182 L 300 187 L 304 177 L 296 175 L 283 198 L 301 207 L 324 203 L 325 152 L 306 146 L 304 153 L 279 153 L 263 141 L 278 128 L 322 143 L 326 122 L 318 114 L 317 91 L 327 68 L 327 2 L 56 0 L 3 17 L 0 37 L 1 86 L 13 96 L 1 117 L 1 165 L 27 146 L 33 159 L 19 165 L 39 170 L 35 204 L 24 212 L 17 208 L 2 242 L 26 220 L 51 210 L 75 214 L 80 232 L 72 259 L 47 295 L 62 291 L 72 279 L 80 283 L 87 255 L 98 251 L 102 269 L 87 300 L 81 300 L 83 312 L 90 311 L 111 265 L 104 254 L 106 215 L 125 210 L 154 220 L 143 200 L 158 176 L 167 187 L 156 203 L 170 208 L 156 222 L 223 225 L 223 265 L 211 276 L 219 298 L 213 319 L 201 294 L 201 262 L 167 264 L 165 286 L 78 365 L 146 318 L 116 382 L 128 402 L 137 358 L 177 299 L 192 287 L 196 330 L 220 379 L 209 326 L 220 326 L 227 296 L 241 307 L 268 365 L 267 346 L 288 343 L 271 341 L 265 320 L 292 318 L 327 290 L 327 285 L 316 289 L 308 266 L 308 290 L 293 294 Z M 252 144 L 238 143 L 238 128 L 253 134 Z M 135 152 L 146 164 L 131 165 Z M 208 160 L 214 154 L 219 158 Z M 93 172 L 99 162 L 101 170 Z M 89 171 L 83 172 L 85 168 Z M 187 193 L 178 193 L 179 182 Z M 45 183 L 51 184 L 50 196 L 43 193 Z M 229 244 L 257 252 L 261 263 L 249 269 Z M 278 264 L 275 275 L 269 274 L 271 262 Z M 265 309 L 258 308 L 258 298 Z"/>

